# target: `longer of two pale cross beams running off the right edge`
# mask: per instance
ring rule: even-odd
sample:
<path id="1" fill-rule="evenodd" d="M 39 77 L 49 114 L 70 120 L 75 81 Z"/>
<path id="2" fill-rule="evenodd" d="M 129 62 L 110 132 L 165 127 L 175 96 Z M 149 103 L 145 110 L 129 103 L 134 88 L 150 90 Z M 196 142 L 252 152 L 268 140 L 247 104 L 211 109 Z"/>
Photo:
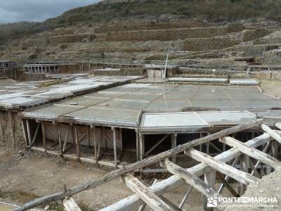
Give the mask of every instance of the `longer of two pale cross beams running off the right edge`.
<path id="1" fill-rule="evenodd" d="M 249 155 L 251 158 L 255 158 L 263 162 L 266 165 L 270 165 L 273 168 L 281 167 L 281 162 L 270 155 L 263 153 L 256 148 L 247 146 L 246 144 L 233 139 L 229 136 L 220 139 L 221 142 L 226 143 L 228 146 L 237 147 L 242 153 Z"/>

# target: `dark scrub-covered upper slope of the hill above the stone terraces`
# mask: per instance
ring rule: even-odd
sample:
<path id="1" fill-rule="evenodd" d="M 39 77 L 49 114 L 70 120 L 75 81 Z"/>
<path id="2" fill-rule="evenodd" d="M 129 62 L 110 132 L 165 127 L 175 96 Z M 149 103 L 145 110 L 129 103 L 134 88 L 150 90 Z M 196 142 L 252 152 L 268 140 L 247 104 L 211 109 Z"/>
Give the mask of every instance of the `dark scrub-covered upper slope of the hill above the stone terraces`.
<path id="1" fill-rule="evenodd" d="M 74 8 L 43 23 L 0 25 L 0 45 L 6 45 L 10 38 L 16 39 L 57 27 L 117 19 L 166 21 L 200 18 L 209 22 L 231 22 L 259 17 L 279 21 L 279 8 L 280 0 L 107 0 Z"/>

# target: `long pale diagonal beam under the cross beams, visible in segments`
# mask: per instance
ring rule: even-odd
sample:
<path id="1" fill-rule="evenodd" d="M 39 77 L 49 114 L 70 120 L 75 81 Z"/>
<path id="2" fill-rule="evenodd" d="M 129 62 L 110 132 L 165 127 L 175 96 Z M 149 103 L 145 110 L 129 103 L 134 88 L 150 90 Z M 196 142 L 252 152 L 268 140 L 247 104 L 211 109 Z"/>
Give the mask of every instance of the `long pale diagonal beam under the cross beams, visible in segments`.
<path id="1" fill-rule="evenodd" d="M 261 136 L 256 137 L 253 140 L 247 141 L 248 146 L 252 146 L 254 148 L 258 146 L 262 146 L 264 143 L 268 143 L 270 141 L 271 137 L 268 134 L 262 134 Z M 216 155 L 216 159 L 221 160 L 223 162 L 229 162 L 230 160 L 233 160 L 240 156 L 242 153 L 237 148 L 231 148 L 230 150 L 223 152 L 219 155 Z M 211 171 L 211 168 L 207 165 L 200 163 L 198 165 L 195 165 L 194 167 L 190 167 L 188 171 L 192 174 L 195 174 L 197 177 L 201 176 L 205 172 Z M 167 193 L 174 188 L 177 188 L 178 186 L 185 185 L 185 181 L 181 179 L 181 177 L 178 177 L 176 175 L 169 177 L 168 179 L 164 179 L 163 181 L 159 181 L 157 184 L 150 186 L 151 190 L 159 195 L 163 195 L 164 193 Z M 103 211 L 122 211 L 122 210 L 133 210 L 134 208 L 142 205 L 142 200 L 135 195 L 129 196 L 127 198 L 124 198 L 122 200 L 119 200 L 119 202 L 110 205 L 108 207 L 103 208 Z M 101 211 L 101 210 L 100 210 Z"/>

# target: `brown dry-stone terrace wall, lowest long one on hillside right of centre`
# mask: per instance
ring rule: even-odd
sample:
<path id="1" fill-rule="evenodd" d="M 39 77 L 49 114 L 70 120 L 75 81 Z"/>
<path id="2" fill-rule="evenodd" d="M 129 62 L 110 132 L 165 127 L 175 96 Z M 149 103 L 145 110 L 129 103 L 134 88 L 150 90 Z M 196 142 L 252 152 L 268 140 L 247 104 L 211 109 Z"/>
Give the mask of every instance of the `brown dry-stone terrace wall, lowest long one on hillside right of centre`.
<path id="1" fill-rule="evenodd" d="M 230 46 L 240 44 L 241 40 L 231 37 L 211 37 L 185 39 L 183 51 L 211 51 L 226 49 Z"/>

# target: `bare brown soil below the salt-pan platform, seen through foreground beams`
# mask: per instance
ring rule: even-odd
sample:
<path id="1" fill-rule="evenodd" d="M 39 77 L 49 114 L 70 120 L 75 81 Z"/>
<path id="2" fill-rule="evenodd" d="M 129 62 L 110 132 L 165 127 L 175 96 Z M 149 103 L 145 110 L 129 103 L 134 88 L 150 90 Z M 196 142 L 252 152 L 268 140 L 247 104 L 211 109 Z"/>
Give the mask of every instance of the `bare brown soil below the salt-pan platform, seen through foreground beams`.
<path id="1" fill-rule="evenodd" d="M 0 201 L 22 204 L 29 200 L 63 191 L 63 184 L 71 187 L 89 179 L 101 177 L 112 169 L 92 164 L 55 158 L 38 153 L 14 152 L 0 146 Z M 143 177 L 146 184 L 169 177 L 168 174 L 150 174 Z M 179 204 L 188 185 L 176 188 L 165 196 Z M 82 210 L 99 210 L 133 193 L 121 179 L 109 181 L 102 186 L 74 196 Z M 202 210 L 202 195 L 193 190 L 185 210 Z M 44 207 L 41 207 L 44 208 Z M 63 210 L 60 202 L 52 203 L 50 209 Z M 1 210 L 1 209 L 0 209 Z"/>

